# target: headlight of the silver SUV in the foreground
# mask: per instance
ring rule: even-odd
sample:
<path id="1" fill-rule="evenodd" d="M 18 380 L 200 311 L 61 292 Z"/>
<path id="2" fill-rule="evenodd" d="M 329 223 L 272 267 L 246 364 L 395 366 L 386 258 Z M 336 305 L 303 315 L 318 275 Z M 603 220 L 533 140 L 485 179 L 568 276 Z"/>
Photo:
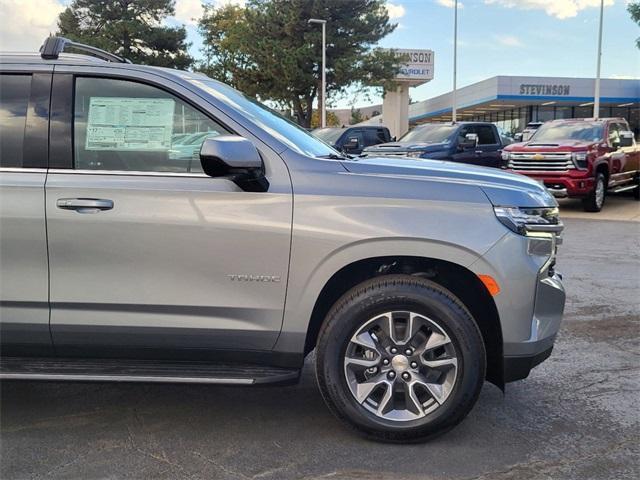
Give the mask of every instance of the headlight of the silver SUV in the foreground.
<path id="1" fill-rule="evenodd" d="M 560 234 L 564 228 L 556 207 L 494 207 L 493 211 L 500 223 L 520 235 L 548 236 Z"/>

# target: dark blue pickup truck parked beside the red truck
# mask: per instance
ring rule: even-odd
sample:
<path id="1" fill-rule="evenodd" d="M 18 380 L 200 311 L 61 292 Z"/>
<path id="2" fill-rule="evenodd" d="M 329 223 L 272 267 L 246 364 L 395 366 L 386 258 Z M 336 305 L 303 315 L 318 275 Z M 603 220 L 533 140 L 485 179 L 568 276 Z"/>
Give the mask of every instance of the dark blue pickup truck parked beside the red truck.
<path id="1" fill-rule="evenodd" d="M 364 150 L 365 155 L 393 155 L 500 167 L 502 139 L 487 122 L 430 123 L 407 132 L 397 142 Z"/>

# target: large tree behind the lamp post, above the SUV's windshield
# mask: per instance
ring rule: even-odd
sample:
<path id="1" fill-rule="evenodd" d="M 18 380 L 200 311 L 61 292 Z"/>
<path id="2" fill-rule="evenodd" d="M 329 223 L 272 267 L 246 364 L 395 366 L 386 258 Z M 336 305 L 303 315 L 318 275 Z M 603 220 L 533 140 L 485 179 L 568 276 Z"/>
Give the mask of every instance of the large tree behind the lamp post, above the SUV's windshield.
<path id="1" fill-rule="evenodd" d="M 205 6 L 207 75 L 292 109 L 309 127 L 321 93 L 322 34 L 310 18 L 327 20 L 327 95 L 348 87 L 390 87 L 398 71 L 392 51 L 375 48 L 391 33 L 384 0 L 248 0 L 244 7 Z"/>

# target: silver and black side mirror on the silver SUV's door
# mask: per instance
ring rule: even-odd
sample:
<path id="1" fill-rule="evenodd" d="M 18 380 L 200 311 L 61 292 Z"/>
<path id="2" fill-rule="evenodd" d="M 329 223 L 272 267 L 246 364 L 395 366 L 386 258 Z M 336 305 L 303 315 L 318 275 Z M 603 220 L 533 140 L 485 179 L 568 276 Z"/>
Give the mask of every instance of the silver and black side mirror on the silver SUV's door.
<path id="1" fill-rule="evenodd" d="M 200 148 L 200 163 L 210 177 L 228 178 L 245 191 L 265 192 L 269 188 L 258 149 L 238 135 L 205 139 Z"/>

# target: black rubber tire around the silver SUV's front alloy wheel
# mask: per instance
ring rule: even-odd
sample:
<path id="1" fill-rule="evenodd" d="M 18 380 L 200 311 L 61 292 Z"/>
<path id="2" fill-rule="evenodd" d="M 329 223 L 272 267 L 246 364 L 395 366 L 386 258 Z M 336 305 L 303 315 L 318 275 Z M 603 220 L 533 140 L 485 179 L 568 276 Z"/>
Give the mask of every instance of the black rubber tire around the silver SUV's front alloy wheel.
<path id="1" fill-rule="evenodd" d="M 455 383 L 435 411 L 410 421 L 391 421 L 361 405 L 349 390 L 344 357 L 350 339 L 369 319 L 390 310 L 429 316 L 446 332 L 458 358 Z M 331 308 L 321 328 L 316 376 L 325 402 L 344 423 L 366 437 L 387 442 L 419 442 L 460 423 L 474 406 L 485 378 L 482 335 L 467 308 L 438 284 L 409 275 L 368 280 L 349 290 Z"/>

